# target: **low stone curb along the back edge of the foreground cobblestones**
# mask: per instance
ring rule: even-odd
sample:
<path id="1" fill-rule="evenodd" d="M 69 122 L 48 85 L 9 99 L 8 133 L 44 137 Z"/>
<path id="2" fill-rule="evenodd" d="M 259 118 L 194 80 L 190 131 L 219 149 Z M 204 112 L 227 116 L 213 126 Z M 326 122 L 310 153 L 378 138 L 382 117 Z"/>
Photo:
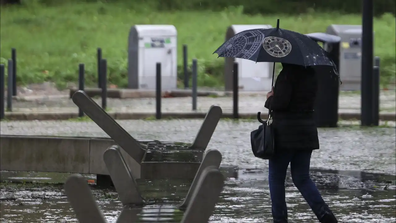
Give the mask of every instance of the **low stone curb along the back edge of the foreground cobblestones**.
<path id="1" fill-rule="evenodd" d="M 155 113 L 141 112 L 108 112 L 114 119 L 153 119 Z M 206 112 L 164 112 L 163 119 L 203 119 Z M 6 112 L 6 120 L 67 120 L 78 117 L 78 112 Z M 225 112 L 222 118 L 232 118 L 231 112 Z M 240 113 L 240 119 L 256 119 L 257 113 Z M 265 114 L 262 115 L 265 118 Z M 360 113 L 339 113 L 339 120 L 360 120 Z M 396 113 L 380 113 L 381 121 L 396 121 Z"/>

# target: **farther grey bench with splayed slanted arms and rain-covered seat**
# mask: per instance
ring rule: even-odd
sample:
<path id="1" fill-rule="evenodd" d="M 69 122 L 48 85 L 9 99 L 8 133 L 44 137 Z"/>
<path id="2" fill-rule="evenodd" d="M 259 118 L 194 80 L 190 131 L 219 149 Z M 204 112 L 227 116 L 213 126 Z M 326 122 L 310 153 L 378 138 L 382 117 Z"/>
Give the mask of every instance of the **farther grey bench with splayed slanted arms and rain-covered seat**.
<path id="1" fill-rule="evenodd" d="M 74 104 L 82 109 L 107 135 L 114 140 L 141 169 L 142 179 L 191 177 L 200 167 L 203 153 L 222 115 L 219 106 L 210 107 L 206 117 L 191 144 L 154 141 L 138 141 L 122 128 L 105 110 L 84 91 L 78 90 L 72 96 Z M 162 161 L 172 157 L 174 160 Z M 134 173 L 138 170 L 133 170 Z"/>

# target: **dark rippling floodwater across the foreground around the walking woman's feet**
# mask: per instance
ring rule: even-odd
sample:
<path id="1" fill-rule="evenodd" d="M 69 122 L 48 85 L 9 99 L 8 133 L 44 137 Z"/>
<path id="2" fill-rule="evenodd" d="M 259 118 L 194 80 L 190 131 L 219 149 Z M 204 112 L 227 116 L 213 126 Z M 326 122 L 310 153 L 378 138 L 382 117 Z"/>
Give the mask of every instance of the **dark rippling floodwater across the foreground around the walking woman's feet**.
<path id="1" fill-rule="evenodd" d="M 19 174 L 19 173 L 18 173 Z M 48 177 L 29 173 L 24 177 Z M 54 173 L 51 173 L 54 174 Z M 270 222 L 271 206 L 267 172 L 240 174 L 241 179 L 230 179 L 221 193 L 220 202 L 210 218 L 211 223 Z M 2 172 L 2 179 L 10 179 L 10 172 Z M 5 177 L 8 175 L 8 177 Z M 58 174 L 65 179 L 65 174 Z M 19 175 L 20 176 L 20 175 Z M 53 175 L 56 177 L 57 175 Z M 86 176 L 87 179 L 92 176 Z M 331 206 L 340 222 L 394 223 L 396 221 L 396 192 L 391 185 L 361 182 L 356 178 L 328 173 L 312 173 L 324 200 Z M 17 178 L 12 178 L 16 180 Z M 29 180 L 29 178 L 27 178 Z M 45 180 L 44 180 L 45 181 Z M 59 182 L 59 181 L 57 181 Z M 173 205 L 180 202 L 190 182 L 138 181 L 143 196 L 149 201 L 145 213 L 161 210 L 163 217 L 174 218 Z M 286 199 L 289 219 L 296 223 L 318 222 L 291 179 L 286 180 Z M 385 190 L 384 190 L 385 188 Z M 116 222 L 122 208 L 117 193 L 110 189 L 93 187 L 93 193 L 108 222 Z M 370 195 L 370 196 L 367 196 Z M 75 222 L 62 185 L 1 185 L 1 222 L 5 223 L 67 223 Z M 156 204 L 163 204 L 160 209 Z M 168 208 L 166 208 L 168 207 Z M 179 213 L 180 215 L 180 213 Z M 150 218 L 146 215 L 146 220 Z M 173 216 L 173 217 L 172 217 Z M 179 219 L 177 217 L 177 219 Z M 147 221 L 141 221 L 147 222 Z M 172 221 L 171 221 L 172 222 Z"/>

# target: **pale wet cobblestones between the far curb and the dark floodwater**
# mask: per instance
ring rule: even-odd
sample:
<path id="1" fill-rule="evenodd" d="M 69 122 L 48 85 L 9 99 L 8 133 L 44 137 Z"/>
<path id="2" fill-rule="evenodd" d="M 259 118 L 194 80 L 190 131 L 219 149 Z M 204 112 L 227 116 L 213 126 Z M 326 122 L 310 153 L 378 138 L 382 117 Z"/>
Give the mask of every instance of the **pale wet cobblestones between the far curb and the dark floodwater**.
<path id="1" fill-rule="evenodd" d="M 137 139 L 192 142 L 202 120 L 120 120 L 118 123 Z M 222 153 L 222 165 L 266 168 L 268 161 L 255 158 L 251 152 L 250 132 L 258 126 L 257 121 L 221 120 L 208 149 Z M 396 173 L 396 128 L 319 128 L 318 132 L 321 148 L 313 152 L 311 167 Z M 0 134 L 107 136 L 93 121 L 6 121 L 0 125 Z"/>

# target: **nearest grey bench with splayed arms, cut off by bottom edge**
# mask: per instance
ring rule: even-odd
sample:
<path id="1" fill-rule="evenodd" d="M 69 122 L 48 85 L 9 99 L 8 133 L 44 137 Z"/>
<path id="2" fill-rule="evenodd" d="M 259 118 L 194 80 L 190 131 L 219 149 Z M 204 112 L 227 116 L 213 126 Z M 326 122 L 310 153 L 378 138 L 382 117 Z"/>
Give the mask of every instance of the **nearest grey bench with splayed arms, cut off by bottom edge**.
<path id="1" fill-rule="evenodd" d="M 117 146 L 111 146 L 106 150 L 103 158 L 118 191 L 119 199 L 124 206 L 118 216 L 117 223 L 135 223 L 137 221 L 151 223 L 208 222 L 224 186 L 224 176 L 218 169 L 221 154 L 217 150 L 209 150 L 196 173 L 185 200 L 177 206 L 161 206 L 162 210 L 166 210 L 167 218 L 161 218 L 160 215 L 152 217 L 153 213 L 159 212 L 158 205 L 145 206 L 145 200 L 137 190 L 136 182 L 131 176 L 120 149 Z M 80 223 L 106 222 L 88 184 L 81 175 L 70 176 L 65 183 L 65 191 Z M 181 221 L 172 221 L 169 213 L 173 213 L 177 208 L 183 209 L 185 212 L 181 212 Z M 148 216 L 146 216 L 147 213 L 149 213 Z"/>

